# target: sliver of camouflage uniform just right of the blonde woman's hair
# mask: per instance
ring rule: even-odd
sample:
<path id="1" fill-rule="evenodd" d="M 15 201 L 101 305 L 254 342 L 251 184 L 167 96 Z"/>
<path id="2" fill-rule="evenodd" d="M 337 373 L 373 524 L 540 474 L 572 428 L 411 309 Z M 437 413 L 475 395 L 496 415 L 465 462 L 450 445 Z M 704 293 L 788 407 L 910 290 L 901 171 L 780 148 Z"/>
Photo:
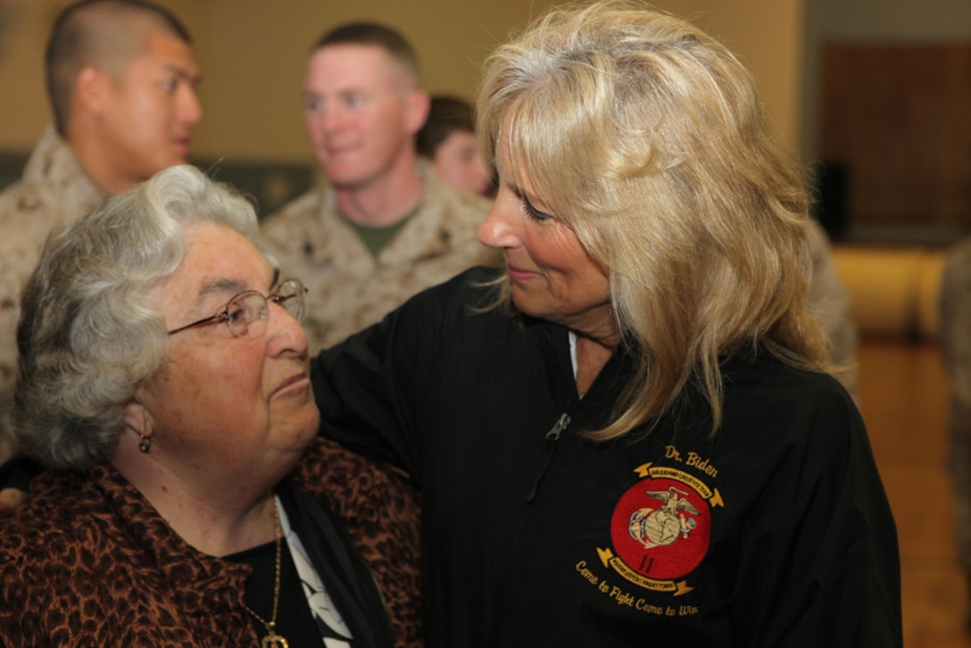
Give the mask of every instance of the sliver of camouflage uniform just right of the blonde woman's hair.
<path id="1" fill-rule="evenodd" d="M 813 256 L 813 276 L 807 296 L 809 307 L 826 332 L 829 353 L 826 359 L 837 367 L 833 375 L 859 401 L 859 371 L 856 367 L 856 323 L 850 310 L 850 293 L 843 285 L 833 261 L 825 230 L 811 221 L 809 248 Z"/>

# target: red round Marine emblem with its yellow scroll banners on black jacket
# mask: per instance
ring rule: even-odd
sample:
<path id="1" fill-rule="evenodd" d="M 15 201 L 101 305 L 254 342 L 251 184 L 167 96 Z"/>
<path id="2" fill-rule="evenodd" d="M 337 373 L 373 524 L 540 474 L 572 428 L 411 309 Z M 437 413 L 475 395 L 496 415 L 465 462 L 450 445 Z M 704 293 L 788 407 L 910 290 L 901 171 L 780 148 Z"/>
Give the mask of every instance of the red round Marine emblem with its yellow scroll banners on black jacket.
<path id="1" fill-rule="evenodd" d="M 611 517 L 611 547 L 601 562 L 623 578 L 655 592 L 681 596 L 684 577 L 708 552 L 711 509 L 723 506 L 717 489 L 670 466 L 645 463 L 640 480 L 620 495 Z"/>

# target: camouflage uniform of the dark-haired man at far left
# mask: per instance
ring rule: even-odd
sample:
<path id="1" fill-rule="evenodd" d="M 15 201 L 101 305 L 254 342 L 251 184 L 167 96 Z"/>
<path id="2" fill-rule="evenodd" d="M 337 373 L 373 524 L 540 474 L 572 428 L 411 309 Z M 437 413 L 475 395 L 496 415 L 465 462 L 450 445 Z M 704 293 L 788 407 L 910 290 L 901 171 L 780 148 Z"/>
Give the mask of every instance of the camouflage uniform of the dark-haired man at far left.
<path id="1" fill-rule="evenodd" d="M 102 197 L 52 128 L 30 154 L 23 177 L 0 192 L 0 460 L 14 449 L 9 416 L 17 374 L 20 288 L 50 230 L 80 219 Z"/>

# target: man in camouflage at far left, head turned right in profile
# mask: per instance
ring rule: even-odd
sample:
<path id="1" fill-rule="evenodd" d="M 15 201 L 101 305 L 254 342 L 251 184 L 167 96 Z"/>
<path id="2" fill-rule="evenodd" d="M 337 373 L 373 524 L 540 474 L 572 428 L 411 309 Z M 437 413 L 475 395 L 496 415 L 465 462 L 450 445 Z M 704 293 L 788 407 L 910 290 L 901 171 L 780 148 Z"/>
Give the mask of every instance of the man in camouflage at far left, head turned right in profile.
<path id="1" fill-rule="evenodd" d="M 13 446 L 19 290 L 48 232 L 184 162 L 202 119 L 189 34 L 149 2 L 67 6 L 50 30 L 45 75 L 53 126 L 22 178 L 0 193 L 0 459 Z"/>

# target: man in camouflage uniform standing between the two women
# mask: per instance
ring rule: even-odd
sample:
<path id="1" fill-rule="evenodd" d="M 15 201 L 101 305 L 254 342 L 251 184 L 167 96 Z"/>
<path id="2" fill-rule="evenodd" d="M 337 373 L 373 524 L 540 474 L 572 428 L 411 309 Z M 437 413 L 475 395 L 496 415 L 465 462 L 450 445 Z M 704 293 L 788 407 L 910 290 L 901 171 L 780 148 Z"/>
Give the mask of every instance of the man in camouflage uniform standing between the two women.
<path id="1" fill-rule="evenodd" d="M 312 351 L 498 258 L 476 236 L 489 201 L 416 152 L 427 115 L 418 58 L 394 29 L 349 23 L 314 46 L 304 116 L 325 184 L 263 221 L 273 254 L 307 282 Z"/>

